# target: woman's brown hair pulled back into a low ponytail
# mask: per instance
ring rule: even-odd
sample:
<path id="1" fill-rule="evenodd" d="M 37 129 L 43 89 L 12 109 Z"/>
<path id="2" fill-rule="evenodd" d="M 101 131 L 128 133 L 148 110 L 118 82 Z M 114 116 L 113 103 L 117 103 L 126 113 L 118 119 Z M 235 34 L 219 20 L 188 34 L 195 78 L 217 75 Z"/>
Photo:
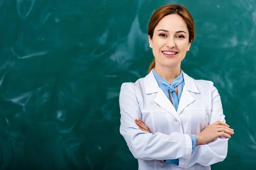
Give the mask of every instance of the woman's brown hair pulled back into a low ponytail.
<path id="1" fill-rule="evenodd" d="M 189 30 L 189 42 L 192 43 L 192 41 L 195 38 L 195 23 L 193 20 L 192 15 L 189 13 L 189 11 L 186 9 L 185 6 L 179 5 L 179 4 L 169 4 L 166 6 L 162 6 L 158 8 L 156 11 L 154 11 L 149 23 L 148 23 L 148 35 L 152 39 L 154 34 L 154 29 L 156 28 L 157 24 L 160 22 L 160 20 L 163 19 L 166 15 L 169 14 L 177 14 L 180 17 L 183 18 L 183 20 L 186 22 L 187 28 Z M 148 68 L 148 73 L 155 67 L 155 59 L 151 63 L 151 65 Z"/>

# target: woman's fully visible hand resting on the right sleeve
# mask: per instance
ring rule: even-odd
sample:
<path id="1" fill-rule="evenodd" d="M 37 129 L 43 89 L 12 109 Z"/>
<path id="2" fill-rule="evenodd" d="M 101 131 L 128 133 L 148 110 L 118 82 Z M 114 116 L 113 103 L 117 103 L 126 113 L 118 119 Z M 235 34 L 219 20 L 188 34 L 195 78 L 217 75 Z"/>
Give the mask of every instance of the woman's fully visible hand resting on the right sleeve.
<path id="1" fill-rule="evenodd" d="M 234 130 L 229 127 L 229 125 L 221 121 L 208 125 L 203 131 L 201 131 L 201 133 L 195 135 L 197 137 L 196 145 L 207 144 L 220 136 L 231 138 L 229 134 L 233 135 Z"/>

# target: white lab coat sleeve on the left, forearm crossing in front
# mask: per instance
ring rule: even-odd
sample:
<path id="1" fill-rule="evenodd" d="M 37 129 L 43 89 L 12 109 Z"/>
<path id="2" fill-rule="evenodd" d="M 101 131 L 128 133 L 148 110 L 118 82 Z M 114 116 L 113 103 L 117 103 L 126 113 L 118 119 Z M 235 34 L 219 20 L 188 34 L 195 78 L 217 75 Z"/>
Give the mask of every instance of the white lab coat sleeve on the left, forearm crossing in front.
<path id="1" fill-rule="evenodd" d="M 120 133 L 136 159 L 167 160 L 189 159 L 192 154 L 192 141 L 189 135 L 181 133 L 147 133 L 140 130 L 135 119 L 142 114 L 134 88 L 129 83 L 121 86 L 119 105 L 121 113 Z"/>

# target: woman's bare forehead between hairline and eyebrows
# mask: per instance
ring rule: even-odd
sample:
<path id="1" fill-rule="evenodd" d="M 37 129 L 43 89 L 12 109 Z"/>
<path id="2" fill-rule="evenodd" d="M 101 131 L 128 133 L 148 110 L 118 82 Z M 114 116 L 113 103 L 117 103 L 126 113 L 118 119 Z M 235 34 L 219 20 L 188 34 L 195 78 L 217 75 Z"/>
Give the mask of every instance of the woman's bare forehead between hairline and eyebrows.
<path id="1" fill-rule="evenodd" d="M 176 31 L 185 31 L 188 33 L 188 28 L 185 21 L 177 14 L 170 14 L 163 17 L 162 20 L 160 20 L 160 22 L 157 24 L 154 31 L 158 31 L 159 29 L 168 30 L 170 33 Z"/>

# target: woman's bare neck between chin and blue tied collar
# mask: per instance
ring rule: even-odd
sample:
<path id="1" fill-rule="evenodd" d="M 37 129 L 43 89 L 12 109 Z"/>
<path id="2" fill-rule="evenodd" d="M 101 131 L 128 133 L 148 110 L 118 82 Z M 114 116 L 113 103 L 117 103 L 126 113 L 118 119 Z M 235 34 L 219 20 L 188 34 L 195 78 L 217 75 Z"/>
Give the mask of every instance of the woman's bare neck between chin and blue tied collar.
<path id="1" fill-rule="evenodd" d="M 154 71 L 166 81 L 172 83 L 172 81 L 180 75 L 180 65 L 176 67 L 163 67 L 156 64 Z"/>

